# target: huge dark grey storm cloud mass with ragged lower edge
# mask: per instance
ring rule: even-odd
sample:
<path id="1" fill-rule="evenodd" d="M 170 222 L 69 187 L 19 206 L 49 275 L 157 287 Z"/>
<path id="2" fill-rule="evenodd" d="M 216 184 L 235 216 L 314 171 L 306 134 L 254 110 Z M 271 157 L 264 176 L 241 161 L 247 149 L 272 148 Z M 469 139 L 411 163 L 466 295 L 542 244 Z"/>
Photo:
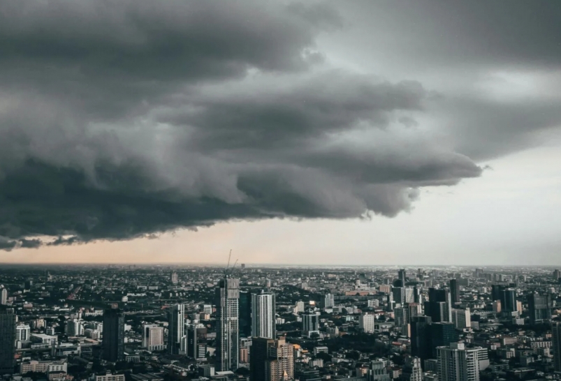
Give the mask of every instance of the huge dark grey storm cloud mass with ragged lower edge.
<path id="1" fill-rule="evenodd" d="M 325 3 L 3 3 L 0 248 L 395 216 L 479 176 L 395 126 L 421 83 L 316 66 L 342 25 Z"/>

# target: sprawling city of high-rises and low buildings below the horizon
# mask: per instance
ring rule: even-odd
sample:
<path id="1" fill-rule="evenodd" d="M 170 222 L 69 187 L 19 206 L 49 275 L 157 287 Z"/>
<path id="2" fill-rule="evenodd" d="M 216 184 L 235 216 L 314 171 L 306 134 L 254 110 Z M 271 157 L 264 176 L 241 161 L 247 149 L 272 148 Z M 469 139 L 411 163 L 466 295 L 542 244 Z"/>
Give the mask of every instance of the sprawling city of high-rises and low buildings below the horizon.
<path id="1" fill-rule="evenodd" d="M 561 271 L 11 265 L 16 381 L 561 378 Z"/>

